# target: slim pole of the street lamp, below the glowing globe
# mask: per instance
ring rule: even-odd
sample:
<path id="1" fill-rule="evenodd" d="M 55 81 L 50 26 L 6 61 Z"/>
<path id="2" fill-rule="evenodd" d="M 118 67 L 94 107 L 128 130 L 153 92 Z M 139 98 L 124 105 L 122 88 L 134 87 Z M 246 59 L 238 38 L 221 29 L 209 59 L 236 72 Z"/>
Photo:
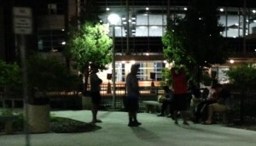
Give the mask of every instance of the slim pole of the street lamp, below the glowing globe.
<path id="1" fill-rule="evenodd" d="M 115 94 L 115 29 L 114 29 L 115 25 L 112 25 L 113 27 L 113 48 L 112 48 L 112 57 L 113 57 L 113 61 L 112 61 L 112 81 L 113 81 L 113 110 L 116 109 L 116 94 Z"/>

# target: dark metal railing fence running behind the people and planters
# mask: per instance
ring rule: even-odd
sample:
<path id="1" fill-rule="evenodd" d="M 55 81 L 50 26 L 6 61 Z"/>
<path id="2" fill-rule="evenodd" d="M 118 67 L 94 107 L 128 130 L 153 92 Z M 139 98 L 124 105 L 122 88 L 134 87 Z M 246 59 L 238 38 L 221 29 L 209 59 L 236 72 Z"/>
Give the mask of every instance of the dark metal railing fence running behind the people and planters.
<path id="1" fill-rule="evenodd" d="M 125 84 L 116 84 L 116 100 L 113 103 L 113 90 L 111 85 L 102 84 L 102 109 L 124 110 L 123 98 L 125 97 Z M 157 100 L 157 96 L 163 94 L 161 87 L 140 87 L 139 110 L 145 110 L 143 101 Z M 256 91 L 249 91 L 242 95 L 237 90 L 232 90 L 232 108 L 237 111 L 235 120 L 256 121 Z M 81 97 L 76 91 L 73 92 L 50 92 L 47 93 L 49 97 L 50 107 L 52 110 L 81 110 Z M 20 94 L 0 92 L 0 107 L 2 108 L 22 108 L 24 100 Z"/>

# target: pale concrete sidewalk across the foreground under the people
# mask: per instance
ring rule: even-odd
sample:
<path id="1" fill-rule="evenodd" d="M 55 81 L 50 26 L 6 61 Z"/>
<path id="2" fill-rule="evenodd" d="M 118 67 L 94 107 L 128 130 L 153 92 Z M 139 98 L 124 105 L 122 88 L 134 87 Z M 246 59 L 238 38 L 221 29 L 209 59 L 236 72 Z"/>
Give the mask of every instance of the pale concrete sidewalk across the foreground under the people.
<path id="1" fill-rule="evenodd" d="M 56 116 L 90 122 L 89 110 L 53 111 Z M 82 133 L 31 134 L 31 146 L 254 146 L 256 132 L 220 125 L 177 126 L 172 119 L 140 113 L 139 127 L 127 126 L 127 113 L 100 111 L 102 129 Z M 25 146 L 25 135 L 1 135 L 0 146 Z"/>

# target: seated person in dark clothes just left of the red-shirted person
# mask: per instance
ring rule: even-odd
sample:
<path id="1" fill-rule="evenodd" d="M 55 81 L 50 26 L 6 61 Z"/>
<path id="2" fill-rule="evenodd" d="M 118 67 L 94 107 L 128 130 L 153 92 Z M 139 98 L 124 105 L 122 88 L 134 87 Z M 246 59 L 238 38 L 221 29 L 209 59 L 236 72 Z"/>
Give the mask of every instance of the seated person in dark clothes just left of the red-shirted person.
<path id="1" fill-rule="evenodd" d="M 172 90 L 167 87 L 167 86 L 164 86 L 163 87 L 164 89 L 164 96 L 163 98 L 160 98 L 159 102 L 162 103 L 162 106 L 161 106 L 161 110 L 160 110 L 160 114 L 157 115 L 157 116 L 165 116 L 166 114 L 166 109 L 169 105 L 169 114 L 170 115 L 167 115 L 168 117 L 172 117 L 172 113 L 173 113 L 173 110 L 172 110 Z"/>

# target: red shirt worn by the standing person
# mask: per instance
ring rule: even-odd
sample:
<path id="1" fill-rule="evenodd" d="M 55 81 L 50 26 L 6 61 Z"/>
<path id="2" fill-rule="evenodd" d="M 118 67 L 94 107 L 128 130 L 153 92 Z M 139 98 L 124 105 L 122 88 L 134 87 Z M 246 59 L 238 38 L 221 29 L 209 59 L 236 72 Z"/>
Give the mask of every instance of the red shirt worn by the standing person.
<path id="1" fill-rule="evenodd" d="M 174 70 L 172 71 L 172 88 L 173 93 L 183 94 L 188 92 L 188 85 L 186 81 L 186 74 L 184 70 L 181 70 L 179 74 L 176 74 Z"/>

